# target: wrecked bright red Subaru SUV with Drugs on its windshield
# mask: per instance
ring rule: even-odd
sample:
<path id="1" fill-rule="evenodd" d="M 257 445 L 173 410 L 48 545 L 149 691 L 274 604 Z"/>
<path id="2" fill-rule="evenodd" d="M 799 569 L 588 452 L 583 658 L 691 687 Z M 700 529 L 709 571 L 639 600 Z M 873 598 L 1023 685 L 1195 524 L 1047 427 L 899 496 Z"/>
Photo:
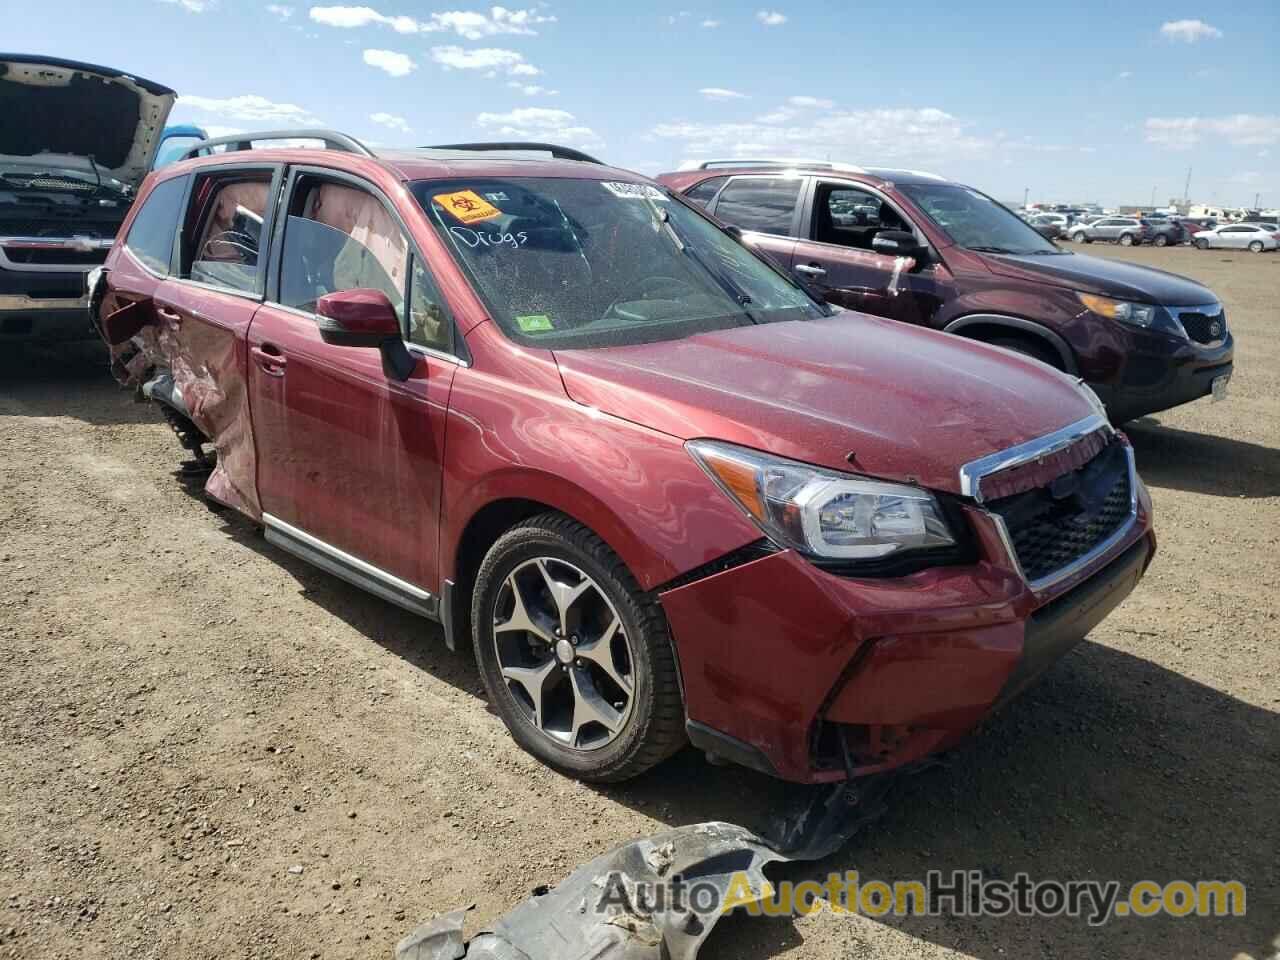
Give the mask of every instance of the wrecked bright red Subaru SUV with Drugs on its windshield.
<path id="1" fill-rule="evenodd" d="M 472 645 L 552 767 L 901 767 L 1146 571 L 1075 378 L 824 305 L 577 151 L 311 136 L 147 179 L 92 289 L 113 367 L 209 498 Z"/>

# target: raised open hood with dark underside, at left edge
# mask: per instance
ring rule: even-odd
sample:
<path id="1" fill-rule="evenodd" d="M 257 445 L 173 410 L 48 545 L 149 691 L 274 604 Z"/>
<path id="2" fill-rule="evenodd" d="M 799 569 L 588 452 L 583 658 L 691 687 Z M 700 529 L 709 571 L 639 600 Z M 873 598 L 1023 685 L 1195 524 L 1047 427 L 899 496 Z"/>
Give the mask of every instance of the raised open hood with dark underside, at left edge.
<path id="1" fill-rule="evenodd" d="M 59 169 L 84 169 L 92 156 L 104 178 L 137 189 L 177 99 L 168 87 L 110 67 L 0 54 L 0 156 L 18 157 L 24 168 L 40 157 Z"/>

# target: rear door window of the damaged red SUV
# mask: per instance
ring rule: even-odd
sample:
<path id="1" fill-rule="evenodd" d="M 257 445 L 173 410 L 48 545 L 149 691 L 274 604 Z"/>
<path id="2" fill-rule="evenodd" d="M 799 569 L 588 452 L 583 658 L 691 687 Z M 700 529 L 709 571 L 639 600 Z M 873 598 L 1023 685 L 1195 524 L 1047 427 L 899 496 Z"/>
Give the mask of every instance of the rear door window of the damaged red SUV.
<path id="1" fill-rule="evenodd" d="M 271 175 L 237 170 L 196 178 L 183 228 L 184 279 L 257 292 Z"/>

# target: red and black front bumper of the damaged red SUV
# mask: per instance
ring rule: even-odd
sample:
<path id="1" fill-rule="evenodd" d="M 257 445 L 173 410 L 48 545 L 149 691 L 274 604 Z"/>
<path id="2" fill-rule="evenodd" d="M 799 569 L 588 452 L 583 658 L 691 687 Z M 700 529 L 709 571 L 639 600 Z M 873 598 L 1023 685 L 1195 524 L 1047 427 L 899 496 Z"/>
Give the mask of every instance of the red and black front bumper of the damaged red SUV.
<path id="1" fill-rule="evenodd" d="M 1036 593 L 991 516 L 968 513 L 984 558 L 972 566 L 859 580 L 785 550 L 663 593 L 692 742 L 810 783 L 950 749 L 1128 596 L 1155 553 L 1139 485 L 1123 540 Z"/>

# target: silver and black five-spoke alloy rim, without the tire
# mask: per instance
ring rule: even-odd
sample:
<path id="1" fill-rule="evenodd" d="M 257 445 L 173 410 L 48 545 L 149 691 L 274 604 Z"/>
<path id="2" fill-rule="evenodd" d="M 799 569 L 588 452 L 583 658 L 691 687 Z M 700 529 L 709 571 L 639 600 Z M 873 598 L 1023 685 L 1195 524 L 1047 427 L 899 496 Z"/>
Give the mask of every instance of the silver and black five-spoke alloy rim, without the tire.
<path id="1" fill-rule="evenodd" d="M 543 736 L 599 750 L 626 727 L 635 699 L 630 639 L 581 568 L 536 557 L 512 570 L 494 600 L 493 643 L 507 691 Z"/>

